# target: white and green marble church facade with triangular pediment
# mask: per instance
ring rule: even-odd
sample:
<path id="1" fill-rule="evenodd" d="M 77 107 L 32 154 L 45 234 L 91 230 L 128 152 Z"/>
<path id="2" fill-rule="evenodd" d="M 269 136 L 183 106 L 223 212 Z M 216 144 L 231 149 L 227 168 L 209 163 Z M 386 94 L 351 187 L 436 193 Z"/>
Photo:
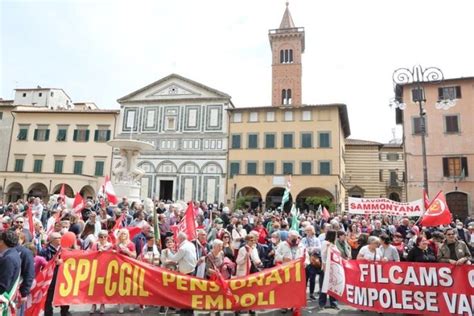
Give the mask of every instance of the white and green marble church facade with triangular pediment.
<path id="1" fill-rule="evenodd" d="M 117 100 L 116 138 L 154 145 L 138 162 L 145 171 L 141 198 L 224 201 L 230 99 L 171 74 Z M 114 154 L 114 166 L 119 159 Z"/>

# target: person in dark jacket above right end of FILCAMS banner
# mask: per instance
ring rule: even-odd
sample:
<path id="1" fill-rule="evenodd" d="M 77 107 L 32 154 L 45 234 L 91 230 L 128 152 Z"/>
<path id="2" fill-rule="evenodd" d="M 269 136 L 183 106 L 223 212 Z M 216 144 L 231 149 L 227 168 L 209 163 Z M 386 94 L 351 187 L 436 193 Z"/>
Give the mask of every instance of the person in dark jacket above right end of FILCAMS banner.
<path id="1" fill-rule="evenodd" d="M 471 252 L 464 241 L 456 239 L 454 229 L 446 229 L 444 235 L 446 236 L 446 241 L 439 248 L 438 261 L 449 262 L 455 265 L 471 264 Z"/>

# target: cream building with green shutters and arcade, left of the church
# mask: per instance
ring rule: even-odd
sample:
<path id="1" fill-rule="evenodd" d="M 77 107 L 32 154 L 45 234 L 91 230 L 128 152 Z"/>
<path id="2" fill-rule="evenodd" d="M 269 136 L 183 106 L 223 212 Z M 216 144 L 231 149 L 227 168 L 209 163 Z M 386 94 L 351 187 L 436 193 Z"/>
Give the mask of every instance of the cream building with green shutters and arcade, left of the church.
<path id="1" fill-rule="evenodd" d="M 110 174 L 112 147 L 119 111 L 99 110 L 93 103 L 76 103 L 74 109 L 17 106 L 11 115 L 11 139 L 6 171 L 0 172 L 4 199 L 29 196 L 48 198 L 80 192 L 95 197 Z"/>

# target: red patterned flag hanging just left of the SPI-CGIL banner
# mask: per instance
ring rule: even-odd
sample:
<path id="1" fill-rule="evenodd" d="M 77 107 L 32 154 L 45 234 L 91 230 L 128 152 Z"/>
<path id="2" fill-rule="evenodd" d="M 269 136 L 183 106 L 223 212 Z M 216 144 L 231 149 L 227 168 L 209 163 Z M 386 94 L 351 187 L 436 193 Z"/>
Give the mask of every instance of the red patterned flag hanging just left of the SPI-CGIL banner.
<path id="1" fill-rule="evenodd" d="M 26 301 L 26 316 L 37 316 L 44 311 L 46 294 L 56 267 L 56 257 L 51 259 L 37 275 L 31 286 L 30 294 Z"/>

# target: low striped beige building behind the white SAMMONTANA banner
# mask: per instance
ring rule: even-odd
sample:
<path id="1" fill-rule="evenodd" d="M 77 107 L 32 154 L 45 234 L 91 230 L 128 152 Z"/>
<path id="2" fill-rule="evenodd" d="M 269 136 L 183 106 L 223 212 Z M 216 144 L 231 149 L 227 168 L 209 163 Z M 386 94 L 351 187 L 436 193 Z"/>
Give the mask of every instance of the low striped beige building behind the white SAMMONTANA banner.
<path id="1" fill-rule="evenodd" d="M 402 144 L 346 139 L 344 160 L 347 196 L 406 201 Z"/>

